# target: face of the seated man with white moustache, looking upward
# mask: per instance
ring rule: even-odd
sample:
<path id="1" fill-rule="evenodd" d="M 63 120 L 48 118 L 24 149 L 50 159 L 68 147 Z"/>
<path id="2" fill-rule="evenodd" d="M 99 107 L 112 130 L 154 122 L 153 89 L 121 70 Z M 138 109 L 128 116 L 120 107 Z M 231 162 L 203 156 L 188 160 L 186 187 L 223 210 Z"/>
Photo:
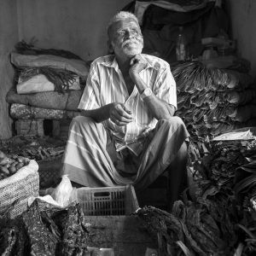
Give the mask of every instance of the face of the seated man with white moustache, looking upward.
<path id="1" fill-rule="evenodd" d="M 113 23 L 109 39 L 115 55 L 134 56 L 142 53 L 143 35 L 137 22 L 133 19 L 129 18 Z"/>

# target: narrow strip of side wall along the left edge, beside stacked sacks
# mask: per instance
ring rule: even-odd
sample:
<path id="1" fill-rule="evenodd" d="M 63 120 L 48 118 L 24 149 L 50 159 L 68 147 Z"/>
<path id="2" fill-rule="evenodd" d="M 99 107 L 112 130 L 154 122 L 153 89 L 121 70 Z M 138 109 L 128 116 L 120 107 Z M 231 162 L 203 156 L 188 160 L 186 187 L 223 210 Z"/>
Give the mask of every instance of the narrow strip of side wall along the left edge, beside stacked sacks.
<path id="1" fill-rule="evenodd" d="M 12 87 L 14 69 L 9 62 L 9 52 L 18 40 L 18 26 L 15 0 L 0 2 L 0 139 L 12 136 L 12 119 L 9 118 L 9 104 L 5 101 Z"/>

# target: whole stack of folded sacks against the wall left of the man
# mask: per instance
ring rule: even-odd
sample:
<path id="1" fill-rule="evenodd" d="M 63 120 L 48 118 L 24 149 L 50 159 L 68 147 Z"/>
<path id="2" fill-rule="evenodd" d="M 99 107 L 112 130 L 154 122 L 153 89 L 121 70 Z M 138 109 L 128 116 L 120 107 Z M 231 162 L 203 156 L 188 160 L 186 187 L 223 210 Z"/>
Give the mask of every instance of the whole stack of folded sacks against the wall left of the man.
<path id="1" fill-rule="evenodd" d="M 90 68 L 87 62 L 65 50 L 39 49 L 25 42 L 17 44 L 16 50 L 11 53 L 11 62 L 18 71 L 17 84 L 6 96 L 11 117 L 22 127 L 24 123 L 29 127 L 32 120 L 72 119 L 78 115 Z"/>

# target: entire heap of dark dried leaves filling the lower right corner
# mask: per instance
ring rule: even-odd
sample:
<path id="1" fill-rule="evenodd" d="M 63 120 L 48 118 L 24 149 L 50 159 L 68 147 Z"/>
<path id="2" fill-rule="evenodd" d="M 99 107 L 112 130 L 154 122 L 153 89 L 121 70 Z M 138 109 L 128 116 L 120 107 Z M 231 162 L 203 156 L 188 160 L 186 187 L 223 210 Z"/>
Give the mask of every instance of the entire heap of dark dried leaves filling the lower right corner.
<path id="1" fill-rule="evenodd" d="M 158 235 L 161 255 L 256 255 L 256 140 L 198 145 L 193 201 L 184 193 L 172 212 L 143 207 L 138 216 Z"/>

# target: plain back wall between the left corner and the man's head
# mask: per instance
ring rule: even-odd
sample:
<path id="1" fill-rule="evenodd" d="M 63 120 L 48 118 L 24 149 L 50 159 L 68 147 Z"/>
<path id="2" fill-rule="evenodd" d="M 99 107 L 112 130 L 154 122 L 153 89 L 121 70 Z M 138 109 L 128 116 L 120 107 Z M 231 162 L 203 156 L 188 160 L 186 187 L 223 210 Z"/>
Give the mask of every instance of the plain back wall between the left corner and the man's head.
<path id="1" fill-rule="evenodd" d="M 107 53 L 106 26 L 130 0 L 17 0 L 19 38 L 91 60 Z"/>

